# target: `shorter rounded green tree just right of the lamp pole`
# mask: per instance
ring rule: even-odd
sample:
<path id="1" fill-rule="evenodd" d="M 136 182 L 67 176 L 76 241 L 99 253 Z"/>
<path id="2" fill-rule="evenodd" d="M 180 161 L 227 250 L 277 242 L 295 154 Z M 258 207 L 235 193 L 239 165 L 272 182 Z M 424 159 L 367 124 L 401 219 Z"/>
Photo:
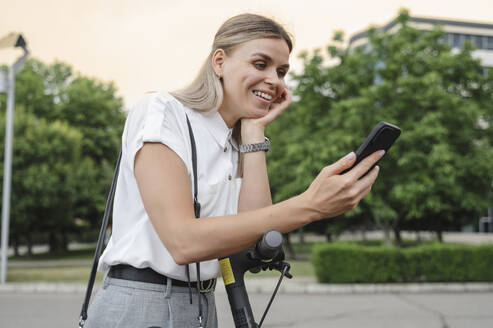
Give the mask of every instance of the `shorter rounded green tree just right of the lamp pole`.
<path id="1" fill-rule="evenodd" d="M 0 116 L 5 125 L 5 115 Z M 4 138 L 4 129 L 0 138 Z M 74 228 L 80 181 L 81 134 L 66 123 L 49 123 L 19 108 L 14 124 L 11 234 L 31 246 L 33 232 L 49 236 L 50 250 L 66 249 Z M 4 144 L 0 145 L 3 166 Z M 3 178 L 3 167 L 0 175 Z"/>

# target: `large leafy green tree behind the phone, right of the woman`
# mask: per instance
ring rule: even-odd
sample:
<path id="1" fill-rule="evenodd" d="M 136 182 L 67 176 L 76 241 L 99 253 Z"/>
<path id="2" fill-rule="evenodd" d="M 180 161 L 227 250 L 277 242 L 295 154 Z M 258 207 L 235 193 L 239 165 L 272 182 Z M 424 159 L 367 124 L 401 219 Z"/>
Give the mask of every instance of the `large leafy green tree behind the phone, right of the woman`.
<path id="1" fill-rule="evenodd" d="M 440 28 L 424 32 L 408 20 L 402 11 L 396 32 L 370 30 L 368 44 L 358 49 L 345 48 L 337 34 L 328 47 L 330 64 L 319 52 L 303 55 L 305 69 L 293 75 L 298 101 L 272 131 L 304 155 L 295 165 L 282 156 L 269 163 L 310 174 L 273 180 L 281 198 L 291 196 L 324 165 L 355 150 L 377 122 L 397 124 L 402 136 L 381 162 L 372 193 L 344 215 L 392 228 L 397 242 L 403 227 L 433 229 L 441 237 L 483 214 L 493 177 L 491 73 L 481 74 L 470 44 L 452 52 Z M 286 147 L 277 152 L 286 154 Z M 299 181 L 295 187 L 293 181 Z"/>

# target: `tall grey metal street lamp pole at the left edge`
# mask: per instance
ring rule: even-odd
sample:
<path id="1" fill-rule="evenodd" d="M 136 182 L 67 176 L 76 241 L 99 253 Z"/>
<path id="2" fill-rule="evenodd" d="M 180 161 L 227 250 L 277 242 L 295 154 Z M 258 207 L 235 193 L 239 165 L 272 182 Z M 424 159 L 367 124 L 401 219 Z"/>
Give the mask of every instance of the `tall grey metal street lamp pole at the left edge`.
<path id="1" fill-rule="evenodd" d="M 24 55 L 9 68 L 7 80 L 7 116 L 5 120 L 5 155 L 3 163 L 3 192 L 2 192 L 2 251 L 0 284 L 7 280 L 7 256 L 9 248 L 9 220 L 10 220 L 10 187 L 12 181 L 12 144 L 14 140 L 14 98 L 15 75 L 22 67 L 29 52 L 24 47 Z"/>

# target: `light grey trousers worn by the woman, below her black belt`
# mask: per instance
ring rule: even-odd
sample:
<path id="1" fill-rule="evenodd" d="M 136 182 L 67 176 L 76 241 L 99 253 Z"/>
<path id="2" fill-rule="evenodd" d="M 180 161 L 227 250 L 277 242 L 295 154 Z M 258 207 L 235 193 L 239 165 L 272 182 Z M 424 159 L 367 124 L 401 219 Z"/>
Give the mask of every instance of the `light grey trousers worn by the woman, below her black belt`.
<path id="1" fill-rule="evenodd" d="M 214 292 L 201 294 L 202 327 L 217 328 Z M 84 328 L 199 327 L 197 290 L 105 277 Z"/>

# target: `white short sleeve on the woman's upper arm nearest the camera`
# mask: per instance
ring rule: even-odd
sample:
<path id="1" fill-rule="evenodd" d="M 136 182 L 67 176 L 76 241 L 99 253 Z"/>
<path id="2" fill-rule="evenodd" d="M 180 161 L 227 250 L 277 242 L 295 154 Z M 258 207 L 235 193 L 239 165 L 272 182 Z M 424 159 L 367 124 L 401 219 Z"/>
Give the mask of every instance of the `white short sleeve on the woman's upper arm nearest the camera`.
<path id="1" fill-rule="evenodd" d="M 133 172 L 135 155 L 145 142 L 160 142 L 173 150 L 190 174 L 189 137 L 183 105 L 159 93 L 147 95 L 137 103 L 128 117 L 127 155 Z M 125 135 L 125 133 L 124 133 Z"/>

